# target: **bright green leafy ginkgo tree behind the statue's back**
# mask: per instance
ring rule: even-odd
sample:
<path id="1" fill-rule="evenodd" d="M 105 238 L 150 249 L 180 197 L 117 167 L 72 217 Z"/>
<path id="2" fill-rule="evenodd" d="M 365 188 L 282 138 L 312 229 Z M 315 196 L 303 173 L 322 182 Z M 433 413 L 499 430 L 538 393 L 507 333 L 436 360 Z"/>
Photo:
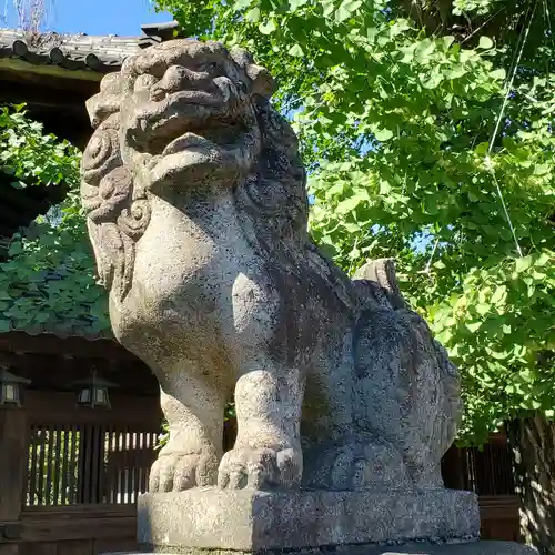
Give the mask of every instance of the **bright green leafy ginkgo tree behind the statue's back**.
<path id="1" fill-rule="evenodd" d="M 274 101 L 310 169 L 313 238 L 347 272 L 396 259 L 403 291 L 461 369 L 460 442 L 517 422 L 523 451 L 542 453 L 519 473 L 544 524 L 553 509 L 528 486 L 552 491 L 555 472 L 544 448 L 555 408 L 551 4 L 158 1 L 182 36 L 240 44 L 278 78 Z M 555 553 L 548 528 L 528 538 Z"/>

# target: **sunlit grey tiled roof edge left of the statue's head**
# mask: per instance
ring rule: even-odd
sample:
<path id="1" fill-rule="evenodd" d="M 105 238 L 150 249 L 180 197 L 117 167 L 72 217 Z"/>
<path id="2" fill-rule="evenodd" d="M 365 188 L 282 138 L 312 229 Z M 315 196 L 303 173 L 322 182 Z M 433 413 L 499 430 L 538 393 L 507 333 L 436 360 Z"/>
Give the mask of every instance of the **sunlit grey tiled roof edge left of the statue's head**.
<path id="1" fill-rule="evenodd" d="M 147 37 L 92 37 L 88 34 L 24 33 L 0 29 L 0 61 L 14 58 L 34 65 L 109 73 L 137 52 Z"/>

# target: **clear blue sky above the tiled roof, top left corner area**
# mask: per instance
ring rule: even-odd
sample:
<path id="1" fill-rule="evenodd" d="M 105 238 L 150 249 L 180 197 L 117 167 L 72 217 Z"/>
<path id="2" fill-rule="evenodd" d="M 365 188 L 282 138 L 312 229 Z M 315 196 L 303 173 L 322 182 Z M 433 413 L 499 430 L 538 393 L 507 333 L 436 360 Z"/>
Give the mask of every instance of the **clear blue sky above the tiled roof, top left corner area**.
<path id="1" fill-rule="evenodd" d="M 150 0 L 47 0 L 50 4 L 46 29 L 57 32 L 87 34 L 137 36 L 142 23 L 171 21 L 169 13 L 154 13 Z M 12 0 L 0 0 L 1 13 Z M 17 27 L 13 9 L 8 12 L 8 26 Z M 0 22 L 0 27 L 4 27 Z"/>

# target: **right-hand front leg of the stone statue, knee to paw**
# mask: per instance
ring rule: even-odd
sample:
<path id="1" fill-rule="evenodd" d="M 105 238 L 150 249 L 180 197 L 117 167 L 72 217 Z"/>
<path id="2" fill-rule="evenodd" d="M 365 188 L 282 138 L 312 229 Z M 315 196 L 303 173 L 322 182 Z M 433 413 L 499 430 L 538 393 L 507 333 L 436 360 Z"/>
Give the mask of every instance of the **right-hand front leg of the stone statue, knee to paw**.
<path id="1" fill-rule="evenodd" d="M 299 370 L 260 370 L 239 379 L 238 438 L 220 463 L 220 487 L 299 487 L 303 471 L 300 374 Z"/>

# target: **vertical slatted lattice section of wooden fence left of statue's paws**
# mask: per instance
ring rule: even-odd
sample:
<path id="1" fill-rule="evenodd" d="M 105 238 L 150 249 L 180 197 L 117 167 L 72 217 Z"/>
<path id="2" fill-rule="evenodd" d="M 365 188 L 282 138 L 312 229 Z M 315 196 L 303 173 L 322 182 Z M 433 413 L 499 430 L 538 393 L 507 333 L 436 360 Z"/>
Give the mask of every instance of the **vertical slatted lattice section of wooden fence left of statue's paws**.
<path id="1" fill-rule="evenodd" d="M 147 491 L 158 430 L 32 424 L 26 505 L 133 504 Z"/>

